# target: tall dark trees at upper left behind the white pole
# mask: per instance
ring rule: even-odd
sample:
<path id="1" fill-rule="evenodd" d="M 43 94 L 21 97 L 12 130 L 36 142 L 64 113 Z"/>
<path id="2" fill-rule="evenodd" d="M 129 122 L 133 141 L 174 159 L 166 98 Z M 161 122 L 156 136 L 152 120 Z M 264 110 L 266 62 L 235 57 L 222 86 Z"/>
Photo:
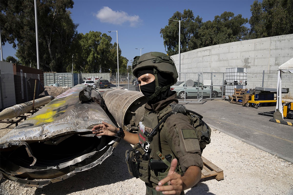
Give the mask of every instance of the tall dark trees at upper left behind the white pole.
<path id="1" fill-rule="evenodd" d="M 37 1 L 39 59 L 44 71 L 62 72 L 69 61 L 77 28 L 67 10 L 73 4 L 72 0 Z M 19 61 L 36 67 L 34 1 L 1 1 L 0 6 L 3 44 L 12 43 Z"/>

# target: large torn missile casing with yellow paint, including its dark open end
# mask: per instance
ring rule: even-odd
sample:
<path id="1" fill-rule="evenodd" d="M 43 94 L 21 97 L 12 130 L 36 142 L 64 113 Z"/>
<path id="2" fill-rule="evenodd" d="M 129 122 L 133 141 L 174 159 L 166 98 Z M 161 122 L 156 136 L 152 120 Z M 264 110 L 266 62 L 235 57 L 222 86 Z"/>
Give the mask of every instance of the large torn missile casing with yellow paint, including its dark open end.
<path id="1" fill-rule="evenodd" d="M 81 102 L 85 92 L 88 101 Z M 102 163 L 120 140 L 93 136 L 91 128 L 102 121 L 117 126 L 103 106 L 99 92 L 83 84 L 57 96 L 0 138 L 2 175 L 24 187 L 43 187 Z"/>

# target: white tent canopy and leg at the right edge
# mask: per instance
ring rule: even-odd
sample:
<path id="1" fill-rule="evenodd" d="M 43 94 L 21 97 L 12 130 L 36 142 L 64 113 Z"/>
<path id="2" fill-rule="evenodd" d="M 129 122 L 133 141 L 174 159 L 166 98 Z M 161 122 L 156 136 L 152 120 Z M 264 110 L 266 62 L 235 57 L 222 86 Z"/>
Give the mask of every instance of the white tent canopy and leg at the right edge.
<path id="1" fill-rule="evenodd" d="M 283 118 L 283 108 L 282 108 L 282 73 L 289 71 L 293 73 L 293 58 L 280 65 L 278 68 L 278 82 L 277 82 L 277 105 L 276 111 L 279 109 Z M 291 89 L 292 90 L 292 89 Z"/>

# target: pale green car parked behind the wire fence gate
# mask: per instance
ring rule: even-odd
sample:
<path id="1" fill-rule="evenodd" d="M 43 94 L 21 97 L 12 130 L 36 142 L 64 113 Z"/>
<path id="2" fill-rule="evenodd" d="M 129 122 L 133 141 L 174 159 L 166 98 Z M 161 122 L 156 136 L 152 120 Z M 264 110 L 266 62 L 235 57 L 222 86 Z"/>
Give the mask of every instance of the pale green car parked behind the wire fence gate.
<path id="1" fill-rule="evenodd" d="M 221 89 L 212 87 L 211 90 L 211 86 L 204 86 L 201 82 L 194 82 L 192 87 L 187 87 L 184 81 L 177 81 L 170 87 L 170 89 L 171 91 L 176 91 L 177 97 L 179 99 L 188 97 L 196 98 L 197 95 L 201 94 L 203 97 L 207 98 L 210 96 L 210 92 L 212 92 L 212 98 L 222 96 Z"/>

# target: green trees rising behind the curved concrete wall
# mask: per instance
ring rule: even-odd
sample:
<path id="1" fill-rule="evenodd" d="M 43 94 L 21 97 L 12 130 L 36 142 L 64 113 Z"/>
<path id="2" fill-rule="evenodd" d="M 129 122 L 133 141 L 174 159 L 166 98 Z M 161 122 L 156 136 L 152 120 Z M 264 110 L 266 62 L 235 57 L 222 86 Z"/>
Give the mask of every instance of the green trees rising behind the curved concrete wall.
<path id="1" fill-rule="evenodd" d="M 190 51 L 202 47 L 263 37 L 278 36 L 293 33 L 293 1 L 292 0 L 263 0 L 254 1 L 251 5 L 252 16 L 249 19 L 251 28 L 244 25 L 247 18 L 241 14 L 225 11 L 216 15 L 213 21 L 202 22 L 202 18 L 193 15 L 191 10 L 183 13 L 175 12 L 168 25 L 161 28 L 160 34 L 164 40 L 165 50 L 169 55 L 178 54 L 179 22 L 180 51 Z"/>

